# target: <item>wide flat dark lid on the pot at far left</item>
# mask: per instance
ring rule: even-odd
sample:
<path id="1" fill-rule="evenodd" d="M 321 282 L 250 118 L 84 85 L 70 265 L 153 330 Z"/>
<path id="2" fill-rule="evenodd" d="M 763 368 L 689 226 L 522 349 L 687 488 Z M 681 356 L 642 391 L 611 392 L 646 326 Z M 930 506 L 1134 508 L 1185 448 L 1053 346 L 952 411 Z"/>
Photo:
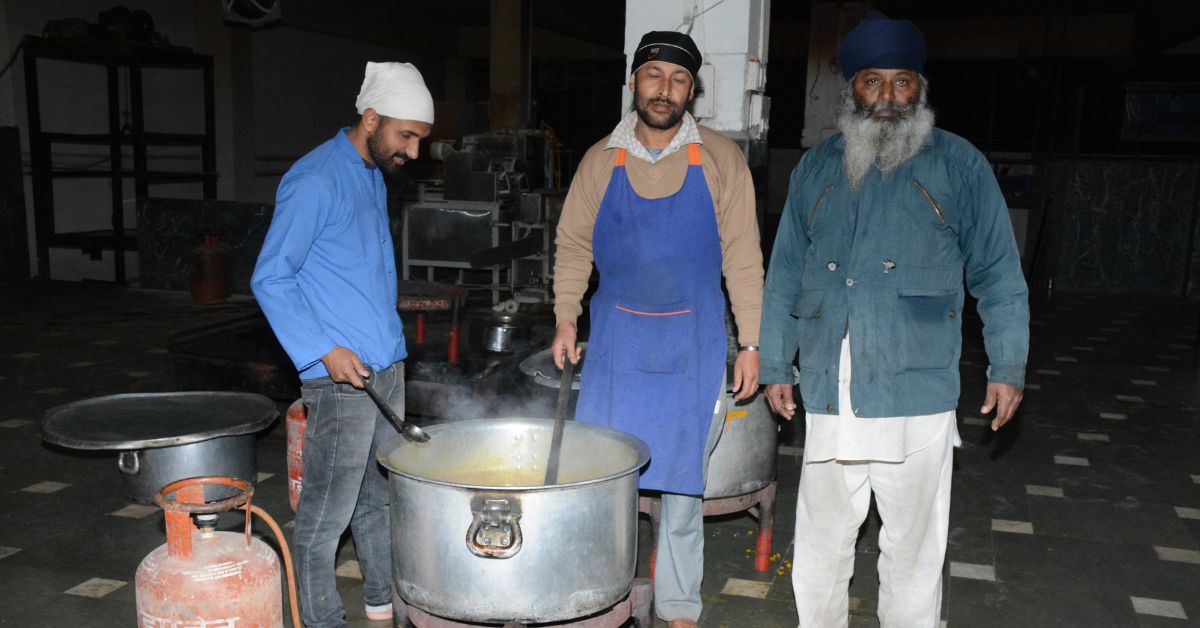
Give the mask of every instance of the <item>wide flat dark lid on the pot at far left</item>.
<path id="1" fill-rule="evenodd" d="M 257 432 L 280 415 L 250 393 L 137 393 L 58 406 L 42 439 L 73 449 L 151 449 Z"/>

